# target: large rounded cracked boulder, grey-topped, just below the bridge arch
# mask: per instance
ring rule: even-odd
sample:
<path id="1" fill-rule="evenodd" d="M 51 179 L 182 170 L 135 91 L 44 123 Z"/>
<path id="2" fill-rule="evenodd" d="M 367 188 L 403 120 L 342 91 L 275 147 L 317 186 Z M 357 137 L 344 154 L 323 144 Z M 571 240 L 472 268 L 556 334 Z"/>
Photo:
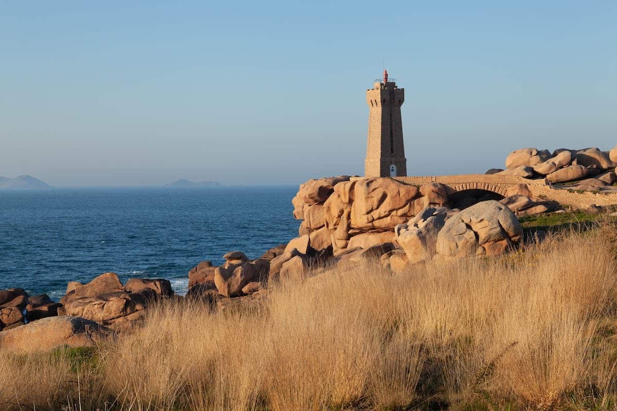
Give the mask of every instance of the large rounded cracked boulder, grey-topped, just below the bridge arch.
<path id="1" fill-rule="evenodd" d="M 436 250 L 445 258 L 497 255 L 518 242 L 523 229 L 507 206 L 482 201 L 453 214 L 437 235 Z"/>

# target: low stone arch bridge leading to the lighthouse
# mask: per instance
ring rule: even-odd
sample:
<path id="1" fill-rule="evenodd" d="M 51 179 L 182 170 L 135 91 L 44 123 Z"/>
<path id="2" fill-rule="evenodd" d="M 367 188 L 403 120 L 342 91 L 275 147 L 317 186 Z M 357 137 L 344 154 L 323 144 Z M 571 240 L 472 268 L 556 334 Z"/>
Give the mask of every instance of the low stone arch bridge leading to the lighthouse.
<path id="1" fill-rule="evenodd" d="M 500 174 L 457 174 L 455 176 L 408 176 L 394 178 L 398 181 L 413 185 L 438 182 L 445 186 L 445 190 L 449 196 L 465 190 L 486 190 L 505 197 L 508 188 L 516 184 L 523 183 L 528 186 L 547 185 L 545 179 L 529 180 L 523 177 L 504 176 Z"/>

